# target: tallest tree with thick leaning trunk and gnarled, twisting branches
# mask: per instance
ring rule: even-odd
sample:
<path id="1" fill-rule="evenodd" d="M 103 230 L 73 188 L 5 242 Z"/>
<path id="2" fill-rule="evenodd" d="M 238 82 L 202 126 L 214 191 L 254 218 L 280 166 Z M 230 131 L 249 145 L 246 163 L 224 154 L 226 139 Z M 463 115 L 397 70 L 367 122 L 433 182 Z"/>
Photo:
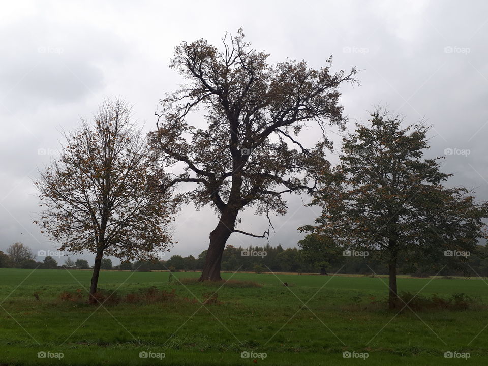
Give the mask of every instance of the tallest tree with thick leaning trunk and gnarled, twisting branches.
<path id="1" fill-rule="evenodd" d="M 271 222 L 262 235 L 237 230 L 239 212 L 253 208 L 269 221 L 270 213 L 286 213 L 285 193 L 314 190 L 318 168 L 328 164 L 326 128 L 344 125 L 337 88 L 356 81 L 355 69 L 331 74 L 331 58 L 320 70 L 304 61 L 270 65 L 269 55 L 251 49 L 243 37 L 240 29 L 236 37 L 224 38 L 222 51 L 203 39 L 176 47 L 170 66 L 187 81 L 155 113 L 155 150 L 167 166 L 184 166 L 163 191 L 196 184 L 179 199 L 192 200 L 197 209 L 211 204 L 220 217 L 209 234 L 201 281 L 221 280 L 222 254 L 233 232 L 268 235 Z M 203 129 L 187 121 L 199 107 L 206 110 Z M 298 138 L 308 123 L 317 123 L 323 138 L 313 147 Z"/>

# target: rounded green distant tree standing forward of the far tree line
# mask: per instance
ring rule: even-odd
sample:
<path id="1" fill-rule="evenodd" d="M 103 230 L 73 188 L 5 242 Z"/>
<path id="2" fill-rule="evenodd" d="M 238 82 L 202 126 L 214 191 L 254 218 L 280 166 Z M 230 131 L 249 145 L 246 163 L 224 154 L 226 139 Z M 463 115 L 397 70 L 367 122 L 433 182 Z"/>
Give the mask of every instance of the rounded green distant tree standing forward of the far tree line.
<path id="1" fill-rule="evenodd" d="M 298 241 L 300 254 L 305 262 L 313 263 L 319 267 L 320 274 L 326 275 L 331 264 L 337 264 L 342 249 L 335 244 L 332 238 L 325 235 L 308 234 Z"/>

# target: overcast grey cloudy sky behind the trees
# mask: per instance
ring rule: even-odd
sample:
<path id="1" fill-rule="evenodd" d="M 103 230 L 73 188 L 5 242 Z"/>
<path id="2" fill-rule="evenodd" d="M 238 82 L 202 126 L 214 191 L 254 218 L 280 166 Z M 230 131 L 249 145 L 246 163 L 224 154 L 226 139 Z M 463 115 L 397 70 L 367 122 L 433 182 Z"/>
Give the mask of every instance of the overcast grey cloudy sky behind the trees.
<path id="1" fill-rule="evenodd" d="M 320 68 L 333 56 L 332 71 L 355 66 L 360 85 L 340 87 L 348 129 L 378 105 L 405 124 L 423 120 L 433 126 L 425 156 L 445 156 L 442 171 L 454 174 L 449 184 L 488 200 L 488 2 L 2 2 L 0 250 L 17 241 L 35 254 L 56 250 L 33 224 L 40 207 L 32 181 L 56 158 L 61 130 L 75 129 L 105 97 L 117 96 L 133 105 L 143 131 L 153 130 L 158 101 L 183 82 L 169 68 L 174 47 L 200 38 L 220 47 L 226 32 L 240 27 L 273 63 L 289 58 Z M 198 115 L 193 120 L 204 126 Z M 303 133 L 312 141 L 313 129 Z M 337 133 L 330 138 L 339 149 Z M 328 158 L 337 161 L 337 153 Z M 297 228 L 320 214 L 304 205 L 307 196 L 287 201 L 288 213 L 272 219 L 272 246 L 296 246 L 304 236 Z M 217 222 L 209 207 L 183 207 L 168 258 L 197 256 Z M 245 212 L 238 228 L 261 234 L 267 220 Z M 234 233 L 228 243 L 266 239 Z M 55 257 L 59 264 L 63 254 Z M 71 255 L 81 257 L 93 261 L 89 253 Z"/>

